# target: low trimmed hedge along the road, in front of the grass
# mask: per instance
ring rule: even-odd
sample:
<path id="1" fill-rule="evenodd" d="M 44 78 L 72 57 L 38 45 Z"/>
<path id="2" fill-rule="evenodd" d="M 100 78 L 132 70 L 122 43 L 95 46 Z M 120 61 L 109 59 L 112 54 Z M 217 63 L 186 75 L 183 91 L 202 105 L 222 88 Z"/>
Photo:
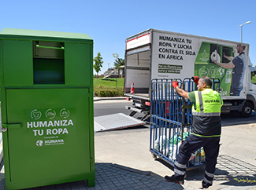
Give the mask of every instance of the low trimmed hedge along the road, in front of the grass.
<path id="1" fill-rule="evenodd" d="M 123 97 L 124 88 L 98 87 L 94 88 L 95 97 Z"/>

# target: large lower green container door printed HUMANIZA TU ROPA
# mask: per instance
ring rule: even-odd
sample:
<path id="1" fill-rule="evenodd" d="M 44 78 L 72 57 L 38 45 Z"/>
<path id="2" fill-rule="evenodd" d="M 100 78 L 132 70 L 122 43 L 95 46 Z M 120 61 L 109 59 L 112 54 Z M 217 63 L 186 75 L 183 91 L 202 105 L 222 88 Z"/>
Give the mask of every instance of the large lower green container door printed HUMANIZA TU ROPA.
<path id="1" fill-rule="evenodd" d="M 90 171 L 87 89 L 6 90 L 6 99 L 12 183 L 61 183 Z"/>

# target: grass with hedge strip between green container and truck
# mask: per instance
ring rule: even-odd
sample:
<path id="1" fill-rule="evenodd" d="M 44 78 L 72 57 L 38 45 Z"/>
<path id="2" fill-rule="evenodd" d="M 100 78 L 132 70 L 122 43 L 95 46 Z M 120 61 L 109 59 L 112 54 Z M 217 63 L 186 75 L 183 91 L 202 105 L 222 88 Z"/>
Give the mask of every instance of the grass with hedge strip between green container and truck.
<path id="1" fill-rule="evenodd" d="M 124 79 L 94 79 L 94 92 L 95 97 L 123 97 Z"/>

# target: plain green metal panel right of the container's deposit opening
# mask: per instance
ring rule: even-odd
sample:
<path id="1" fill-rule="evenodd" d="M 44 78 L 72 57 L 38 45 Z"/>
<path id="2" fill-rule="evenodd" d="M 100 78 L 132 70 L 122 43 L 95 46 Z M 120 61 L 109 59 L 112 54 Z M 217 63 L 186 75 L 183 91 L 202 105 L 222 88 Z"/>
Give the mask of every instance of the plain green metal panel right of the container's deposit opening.
<path id="1" fill-rule="evenodd" d="M 68 86 L 92 85 L 91 45 L 65 43 L 65 84 Z"/>

